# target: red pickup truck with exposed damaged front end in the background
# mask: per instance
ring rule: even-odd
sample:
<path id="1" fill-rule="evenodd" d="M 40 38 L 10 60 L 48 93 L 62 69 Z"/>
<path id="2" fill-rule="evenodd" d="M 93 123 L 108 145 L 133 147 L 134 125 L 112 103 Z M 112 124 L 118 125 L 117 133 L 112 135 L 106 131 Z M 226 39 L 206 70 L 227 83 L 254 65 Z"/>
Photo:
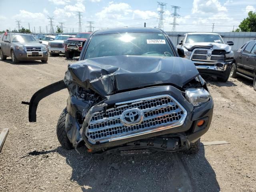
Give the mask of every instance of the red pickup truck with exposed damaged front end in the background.
<path id="1" fill-rule="evenodd" d="M 78 33 L 74 38 L 68 38 L 64 42 L 65 56 L 67 59 L 72 59 L 74 56 L 79 56 L 84 43 L 90 36 L 90 32 Z"/>

